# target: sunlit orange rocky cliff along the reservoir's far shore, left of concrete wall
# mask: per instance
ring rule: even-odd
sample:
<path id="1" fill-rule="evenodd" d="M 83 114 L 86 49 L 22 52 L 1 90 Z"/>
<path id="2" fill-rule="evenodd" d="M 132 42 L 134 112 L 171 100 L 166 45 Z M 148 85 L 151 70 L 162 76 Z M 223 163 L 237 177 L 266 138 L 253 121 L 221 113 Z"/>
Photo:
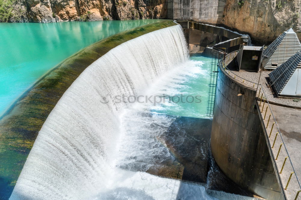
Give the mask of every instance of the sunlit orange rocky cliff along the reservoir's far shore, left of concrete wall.
<path id="1" fill-rule="evenodd" d="M 166 18 L 165 0 L 17 0 L 9 22 Z"/>

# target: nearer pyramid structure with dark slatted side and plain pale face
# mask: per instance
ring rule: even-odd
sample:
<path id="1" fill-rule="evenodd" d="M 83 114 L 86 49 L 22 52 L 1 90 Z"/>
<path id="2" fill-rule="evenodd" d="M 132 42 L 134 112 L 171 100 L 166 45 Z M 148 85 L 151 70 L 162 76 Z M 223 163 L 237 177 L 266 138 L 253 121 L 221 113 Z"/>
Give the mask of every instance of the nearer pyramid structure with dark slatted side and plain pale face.
<path id="1" fill-rule="evenodd" d="M 271 85 L 274 87 L 275 91 L 278 95 L 291 95 L 291 90 L 294 90 L 294 94 L 296 94 L 297 88 L 297 80 L 301 79 L 301 77 L 296 77 L 296 80 L 290 81 L 291 83 L 282 93 L 284 87 L 287 85 L 287 82 L 290 80 L 292 75 L 294 74 L 297 67 L 301 66 L 301 50 L 298 51 L 295 55 L 290 57 L 286 62 L 277 67 L 274 71 L 269 74 Z M 294 83 L 293 83 L 294 82 Z M 293 86 L 293 85 L 294 86 Z M 287 93 L 287 94 L 284 94 Z"/>

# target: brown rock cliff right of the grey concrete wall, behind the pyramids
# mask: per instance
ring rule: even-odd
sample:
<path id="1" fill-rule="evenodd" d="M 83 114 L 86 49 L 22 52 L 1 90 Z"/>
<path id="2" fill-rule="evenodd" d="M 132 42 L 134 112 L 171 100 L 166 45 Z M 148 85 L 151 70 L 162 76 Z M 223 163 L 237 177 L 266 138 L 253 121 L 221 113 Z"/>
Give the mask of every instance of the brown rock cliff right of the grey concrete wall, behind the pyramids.
<path id="1" fill-rule="evenodd" d="M 289 28 L 301 39 L 301 0 L 227 0 L 217 23 L 246 32 L 260 43 L 273 41 Z"/>

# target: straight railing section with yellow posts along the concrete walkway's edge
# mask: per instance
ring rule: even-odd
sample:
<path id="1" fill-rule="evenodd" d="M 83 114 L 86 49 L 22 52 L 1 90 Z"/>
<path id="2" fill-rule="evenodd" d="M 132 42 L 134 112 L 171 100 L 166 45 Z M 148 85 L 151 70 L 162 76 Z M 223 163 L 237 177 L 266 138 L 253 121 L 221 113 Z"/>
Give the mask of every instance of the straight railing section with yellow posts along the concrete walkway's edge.
<path id="1" fill-rule="evenodd" d="M 273 154 L 272 158 L 274 159 L 277 172 L 279 173 L 280 182 L 282 184 L 281 186 L 284 189 L 287 199 L 301 199 L 301 185 L 295 173 L 296 171 L 293 167 L 291 157 L 283 141 L 282 134 L 272 112 L 270 103 L 265 95 L 265 91 L 261 84 L 258 88 L 258 98 L 260 103 L 258 103 L 258 101 L 256 102 L 260 109 L 259 112 L 261 113 L 268 138 L 268 146 Z M 287 160 L 289 162 L 287 162 Z"/>

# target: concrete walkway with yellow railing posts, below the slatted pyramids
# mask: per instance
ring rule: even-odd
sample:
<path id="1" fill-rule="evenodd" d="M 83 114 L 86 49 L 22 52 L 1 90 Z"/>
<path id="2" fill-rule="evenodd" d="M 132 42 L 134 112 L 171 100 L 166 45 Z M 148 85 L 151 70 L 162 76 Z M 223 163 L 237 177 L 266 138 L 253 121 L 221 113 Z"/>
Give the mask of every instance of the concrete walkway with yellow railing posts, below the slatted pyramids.
<path id="1" fill-rule="evenodd" d="M 301 181 L 301 110 L 276 105 L 268 106 L 268 103 L 259 101 L 257 106 L 274 168 L 276 168 L 275 172 L 278 172 L 278 179 L 287 199 L 295 199 L 298 191 L 301 190 L 298 183 L 298 180 Z M 301 193 L 297 199 L 301 199 Z"/>

